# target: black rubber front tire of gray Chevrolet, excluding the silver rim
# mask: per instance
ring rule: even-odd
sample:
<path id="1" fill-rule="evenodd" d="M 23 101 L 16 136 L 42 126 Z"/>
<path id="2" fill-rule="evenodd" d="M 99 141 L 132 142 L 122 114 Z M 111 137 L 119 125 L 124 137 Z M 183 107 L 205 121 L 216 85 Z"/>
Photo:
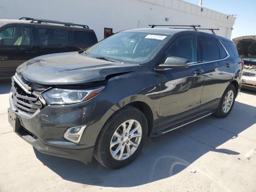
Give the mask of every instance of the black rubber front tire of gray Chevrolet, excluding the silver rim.
<path id="1" fill-rule="evenodd" d="M 124 160 L 116 160 L 110 152 L 110 142 L 116 130 L 128 120 L 135 120 L 141 126 L 141 139 L 136 150 Z M 144 114 L 132 106 L 126 106 L 113 114 L 103 126 L 94 148 L 94 157 L 100 164 L 109 169 L 118 169 L 131 163 L 142 150 L 148 135 L 148 123 Z M 123 140 L 122 140 L 123 141 Z M 128 141 L 129 142 L 129 141 Z M 126 143 L 120 143 L 125 145 Z M 118 146 L 120 145 L 118 144 Z M 133 146 L 132 146 L 133 147 Z M 129 145 L 130 148 L 130 145 Z M 127 149 L 126 149 L 127 150 Z M 127 152 L 127 151 L 126 151 Z"/>

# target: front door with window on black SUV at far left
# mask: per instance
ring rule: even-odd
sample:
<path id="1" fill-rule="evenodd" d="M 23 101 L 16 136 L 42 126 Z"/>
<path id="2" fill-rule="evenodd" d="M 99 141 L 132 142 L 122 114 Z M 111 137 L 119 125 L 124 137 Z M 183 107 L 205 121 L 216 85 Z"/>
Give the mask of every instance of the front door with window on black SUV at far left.
<path id="1" fill-rule="evenodd" d="M 12 76 L 16 68 L 36 56 L 33 45 L 32 25 L 12 24 L 0 29 L 0 76 Z"/>

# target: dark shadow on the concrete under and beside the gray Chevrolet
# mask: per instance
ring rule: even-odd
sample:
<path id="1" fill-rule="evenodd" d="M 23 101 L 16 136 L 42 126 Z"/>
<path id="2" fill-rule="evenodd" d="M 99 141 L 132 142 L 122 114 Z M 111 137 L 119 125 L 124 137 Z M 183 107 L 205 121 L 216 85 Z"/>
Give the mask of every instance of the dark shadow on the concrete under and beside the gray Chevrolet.
<path id="1" fill-rule="evenodd" d="M 216 148 L 252 126 L 255 111 L 254 106 L 236 102 L 227 118 L 208 116 L 168 134 L 148 138 L 138 158 L 119 170 L 108 170 L 94 158 L 85 165 L 34 151 L 45 166 L 65 180 L 96 186 L 138 186 L 173 176 L 209 151 L 238 155 L 230 149 Z"/>

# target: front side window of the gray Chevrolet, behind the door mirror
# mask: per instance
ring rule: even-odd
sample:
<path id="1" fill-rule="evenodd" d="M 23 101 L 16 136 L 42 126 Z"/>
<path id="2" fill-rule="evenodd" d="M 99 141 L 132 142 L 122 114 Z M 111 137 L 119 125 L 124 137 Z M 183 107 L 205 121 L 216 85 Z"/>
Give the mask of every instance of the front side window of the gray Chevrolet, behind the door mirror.
<path id="1" fill-rule="evenodd" d="M 166 58 L 176 56 L 188 59 L 191 63 L 198 62 L 196 36 L 183 35 L 176 39 L 164 53 L 160 63 L 164 63 Z"/>

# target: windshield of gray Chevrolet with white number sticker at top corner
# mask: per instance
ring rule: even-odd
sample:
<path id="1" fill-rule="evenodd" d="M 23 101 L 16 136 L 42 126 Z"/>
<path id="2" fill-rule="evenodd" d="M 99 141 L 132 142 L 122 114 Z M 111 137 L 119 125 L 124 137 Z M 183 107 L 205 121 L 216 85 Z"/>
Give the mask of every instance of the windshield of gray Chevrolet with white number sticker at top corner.
<path id="1" fill-rule="evenodd" d="M 146 32 L 119 32 L 88 48 L 83 54 L 124 63 L 142 63 L 151 58 L 170 36 Z"/>

